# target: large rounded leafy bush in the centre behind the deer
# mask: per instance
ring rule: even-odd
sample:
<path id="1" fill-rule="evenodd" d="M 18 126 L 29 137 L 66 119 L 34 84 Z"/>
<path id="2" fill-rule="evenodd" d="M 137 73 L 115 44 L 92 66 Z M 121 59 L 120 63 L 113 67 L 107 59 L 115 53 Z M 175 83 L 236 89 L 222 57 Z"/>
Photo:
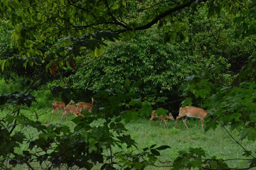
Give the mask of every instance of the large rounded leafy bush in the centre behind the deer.
<path id="1" fill-rule="evenodd" d="M 128 78 L 131 84 L 140 84 L 131 89 L 134 92 L 176 93 L 180 80 L 192 74 L 196 68 L 186 61 L 186 57 L 181 57 L 185 56 L 181 52 L 181 45 L 163 44 L 163 35 L 156 29 L 143 34 L 135 34 L 134 39 L 110 44 L 99 58 L 80 58 L 79 69 L 69 78 L 73 87 L 94 92 L 105 89 L 116 93 L 114 85 L 124 84 Z"/>

